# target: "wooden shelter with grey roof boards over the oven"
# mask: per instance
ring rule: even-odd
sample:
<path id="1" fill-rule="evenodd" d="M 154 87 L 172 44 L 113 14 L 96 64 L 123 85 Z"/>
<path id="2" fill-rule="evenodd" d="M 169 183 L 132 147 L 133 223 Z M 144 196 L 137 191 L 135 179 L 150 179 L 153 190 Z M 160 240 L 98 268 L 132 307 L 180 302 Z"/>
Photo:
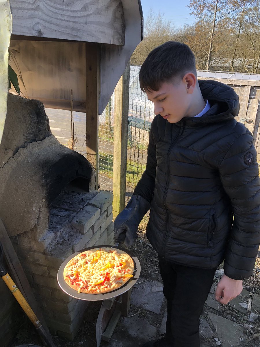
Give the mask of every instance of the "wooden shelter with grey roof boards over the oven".
<path id="1" fill-rule="evenodd" d="M 142 40 L 140 0 L 10 0 L 10 65 L 45 107 L 86 112 L 87 159 L 98 161 L 98 115 Z M 14 59 L 15 57 L 15 59 Z M 19 71 L 20 70 L 20 71 Z"/>

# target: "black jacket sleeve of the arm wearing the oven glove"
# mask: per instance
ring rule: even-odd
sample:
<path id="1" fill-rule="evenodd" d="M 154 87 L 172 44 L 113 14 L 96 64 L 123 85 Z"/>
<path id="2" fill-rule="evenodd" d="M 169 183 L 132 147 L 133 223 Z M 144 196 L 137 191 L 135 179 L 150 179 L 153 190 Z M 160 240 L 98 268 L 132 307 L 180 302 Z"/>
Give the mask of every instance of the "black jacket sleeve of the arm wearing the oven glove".
<path id="1" fill-rule="evenodd" d="M 156 123 L 157 119 L 154 118 L 149 132 L 146 169 L 133 192 L 133 194 L 143 197 L 146 201 L 149 202 L 149 204 L 151 204 L 153 198 L 157 166 L 155 141 L 153 136 L 153 129 Z"/>

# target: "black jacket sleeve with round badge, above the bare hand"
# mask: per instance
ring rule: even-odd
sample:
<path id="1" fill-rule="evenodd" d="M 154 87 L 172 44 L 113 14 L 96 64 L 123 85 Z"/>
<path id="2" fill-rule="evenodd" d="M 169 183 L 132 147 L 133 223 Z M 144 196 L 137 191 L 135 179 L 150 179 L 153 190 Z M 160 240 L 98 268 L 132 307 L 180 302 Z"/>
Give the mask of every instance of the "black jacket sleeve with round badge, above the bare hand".
<path id="1" fill-rule="evenodd" d="M 260 180 L 257 152 L 247 130 L 229 148 L 219 166 L 229 196 L 233 225 L 225 252 L 224 273 L 241 280 L 250 277 L 260 243 Z"/>

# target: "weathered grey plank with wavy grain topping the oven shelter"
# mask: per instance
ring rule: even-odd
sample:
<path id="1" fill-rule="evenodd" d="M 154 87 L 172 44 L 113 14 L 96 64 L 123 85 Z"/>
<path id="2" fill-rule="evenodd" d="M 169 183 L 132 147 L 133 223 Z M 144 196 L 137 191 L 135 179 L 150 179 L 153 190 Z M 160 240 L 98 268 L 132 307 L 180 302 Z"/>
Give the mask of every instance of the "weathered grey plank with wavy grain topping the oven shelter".
<path id="1" fill-rule="evenodd" d="M 16 35 L 124 44 L 120 0 L 10 0 Z"/>

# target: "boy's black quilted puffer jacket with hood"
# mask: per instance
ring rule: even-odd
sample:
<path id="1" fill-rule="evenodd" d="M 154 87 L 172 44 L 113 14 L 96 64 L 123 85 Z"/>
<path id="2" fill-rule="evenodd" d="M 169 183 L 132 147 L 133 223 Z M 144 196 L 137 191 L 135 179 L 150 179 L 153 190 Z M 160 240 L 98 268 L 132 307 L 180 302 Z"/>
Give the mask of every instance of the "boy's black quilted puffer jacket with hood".
<path id="1" fill-rule="evenodd" d="M 253 137 L 234 117 L 239 99 L 200 81 L 210 110 L 170 124 L 157 115 L 134 194 L 151 202 L 147 238 L 168 261 L 249 277 L 260 243 L 260 180 Z M 234 221 L 233 221 L 234 215 Z"/>

